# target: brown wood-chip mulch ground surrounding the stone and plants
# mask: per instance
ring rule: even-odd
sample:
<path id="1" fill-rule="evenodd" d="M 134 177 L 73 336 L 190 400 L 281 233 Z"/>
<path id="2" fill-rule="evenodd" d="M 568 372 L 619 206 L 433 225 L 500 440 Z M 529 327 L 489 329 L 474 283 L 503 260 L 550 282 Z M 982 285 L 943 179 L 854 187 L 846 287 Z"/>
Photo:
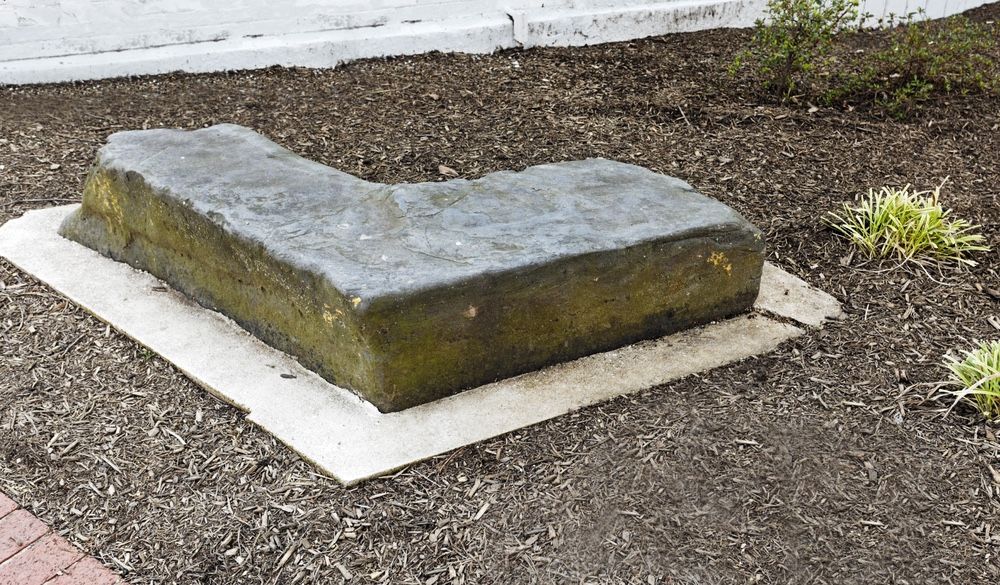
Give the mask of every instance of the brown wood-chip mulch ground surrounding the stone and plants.
<path id="1" fill-rule="evenodd" d="M 601 156 L 735 207 L 847 311 L 767 356 L 345 489 L 0 262 L 0 490 L 135 583 L 1000 582 L 1000 428 L 904 392 L 1000 336 L 1000 254 L 967 272 L 866 263 L 820 219 L 947 177 L 945 205 L 1000 248 L 1000 100 L 905 122 L 776 106 L 726 78 L 747 38 L 0 89 L 0 221 L 77 201 L 122 129 L 235 122 L 383 182 Z"/>

